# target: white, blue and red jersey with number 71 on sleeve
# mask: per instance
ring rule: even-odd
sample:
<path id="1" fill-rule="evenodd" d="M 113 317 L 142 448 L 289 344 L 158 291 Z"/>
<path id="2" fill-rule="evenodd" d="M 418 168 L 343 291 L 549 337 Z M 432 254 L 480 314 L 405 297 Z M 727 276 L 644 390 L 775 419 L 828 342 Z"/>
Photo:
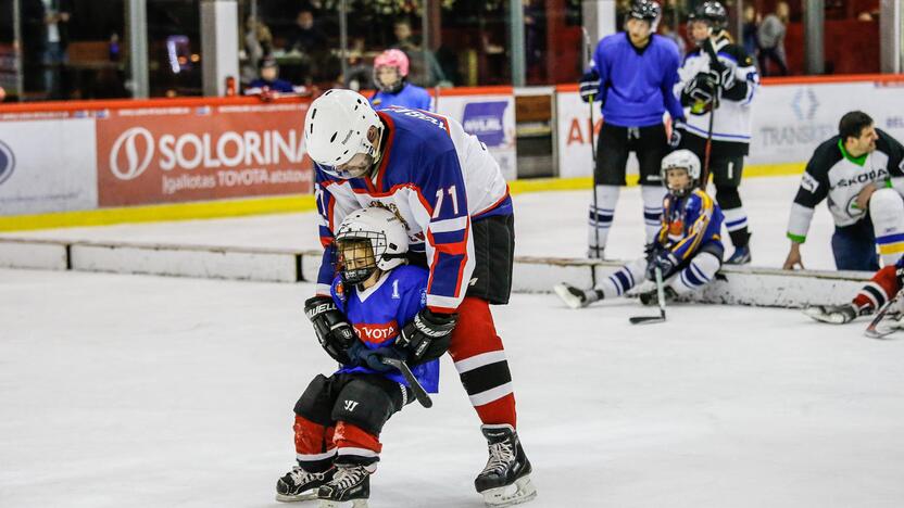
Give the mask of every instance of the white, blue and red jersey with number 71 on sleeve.
<path id="1" fill-rule="evenodd" d="M 350 213 L 381 206 L 402 220 L 409 250 L 424 253 L 430 277 L 427 306 L 459 308 L 475 267 L 472 221 L 513 213 L 508 186 L 487 147 L 442 115 L 392 106 L 377 113 L 385 126 L 382 156 L 369 178 L 343 180 L 315 164 L 324 258 L 317 293 L 329 294 L 334 233 Z"/>

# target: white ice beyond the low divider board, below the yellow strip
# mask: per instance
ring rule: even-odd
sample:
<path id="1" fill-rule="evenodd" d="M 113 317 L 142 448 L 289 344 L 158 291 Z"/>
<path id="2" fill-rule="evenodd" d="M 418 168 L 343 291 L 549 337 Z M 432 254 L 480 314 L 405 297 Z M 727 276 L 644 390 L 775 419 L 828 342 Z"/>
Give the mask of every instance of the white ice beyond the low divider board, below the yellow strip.
<path id="1" fill-rule="evenodd" d="M 784 236 L 788 214 L 799 183 L 800 177 L 751 178 L 744 181 L 741 196 L 753 232 L 753 265 L 780 267 L 784 262 L 790 246 Z M 583 257 L 587 250 L 589 202 L 589 189 L 516 195 L 516 254 Z M 607 257 L 630 259 L 642 254 L 642 213 L 640 188 L 623 189 L 610 234 Z M 802 249 L 804 266 L 834 269 L 829 246 L 832 230 L 831 217 L 826 206 L 820 205 Z M 67 240 L 319 249 L 314 213 L 8 233 L 10 234 Z M 725 237 L 727 256 L 732 250 L 728 236 Z"/>

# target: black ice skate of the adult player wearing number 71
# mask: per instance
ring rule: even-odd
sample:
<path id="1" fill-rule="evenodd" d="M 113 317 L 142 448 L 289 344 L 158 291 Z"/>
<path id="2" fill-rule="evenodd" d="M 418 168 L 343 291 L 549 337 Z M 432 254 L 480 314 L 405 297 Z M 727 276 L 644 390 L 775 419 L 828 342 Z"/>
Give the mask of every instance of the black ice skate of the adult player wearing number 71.
<path id="1" fill-rule="evenodd" d="M 537 490 L 530 483 L 530 461 L 512 426 L 482 426 L 480 431 L 487 437 L 490 458 L 474 480 L 474 486 L 484 495 L 487 506 L 517 505 L 537 497 Z"/>

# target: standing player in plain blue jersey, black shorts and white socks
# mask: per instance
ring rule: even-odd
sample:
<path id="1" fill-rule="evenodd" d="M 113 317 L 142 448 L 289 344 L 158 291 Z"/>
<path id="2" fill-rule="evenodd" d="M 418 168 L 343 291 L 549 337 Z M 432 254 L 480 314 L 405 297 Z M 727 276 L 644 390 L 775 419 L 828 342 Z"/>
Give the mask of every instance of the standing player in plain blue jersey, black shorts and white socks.
<path id="1" fill-rule="evenodd" d="M 660 163 L 670 150 L 663 115 L 668 111 L 675 120 L 685 116 L 673 94 L 680 64 L 678 48 L 668 38 L 655 34 L 658 20 L 658 3 L 635 1 L 625 31 L 600 41 L 591 67 L 580 80 L 581 99 L 600 101 L 603 113 L 597 140 L 595 200 L 590 204 L 588 256 L 591 258 L 603 258 L 618 194 L 626 185 L 625 169 L 631 151 L 640 163 L 648 244 L 658 230 L 664 194 Z"/>

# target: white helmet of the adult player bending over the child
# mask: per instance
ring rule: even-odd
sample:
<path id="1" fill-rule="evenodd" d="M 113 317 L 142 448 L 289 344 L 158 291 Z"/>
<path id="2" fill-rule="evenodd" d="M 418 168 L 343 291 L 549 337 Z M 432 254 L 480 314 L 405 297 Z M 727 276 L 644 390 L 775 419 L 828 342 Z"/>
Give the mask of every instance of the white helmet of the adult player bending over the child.
<path id="1" fill-rule="evenodd" d="M 337 169 L 359 153 L 376 157 L 367 130 L 382 130 L 379 116 L 356 91 L 334 88 L 318 97 L 304 118 L 307 154 L 324 172 L 349 179 L 356 175 Z"/>

